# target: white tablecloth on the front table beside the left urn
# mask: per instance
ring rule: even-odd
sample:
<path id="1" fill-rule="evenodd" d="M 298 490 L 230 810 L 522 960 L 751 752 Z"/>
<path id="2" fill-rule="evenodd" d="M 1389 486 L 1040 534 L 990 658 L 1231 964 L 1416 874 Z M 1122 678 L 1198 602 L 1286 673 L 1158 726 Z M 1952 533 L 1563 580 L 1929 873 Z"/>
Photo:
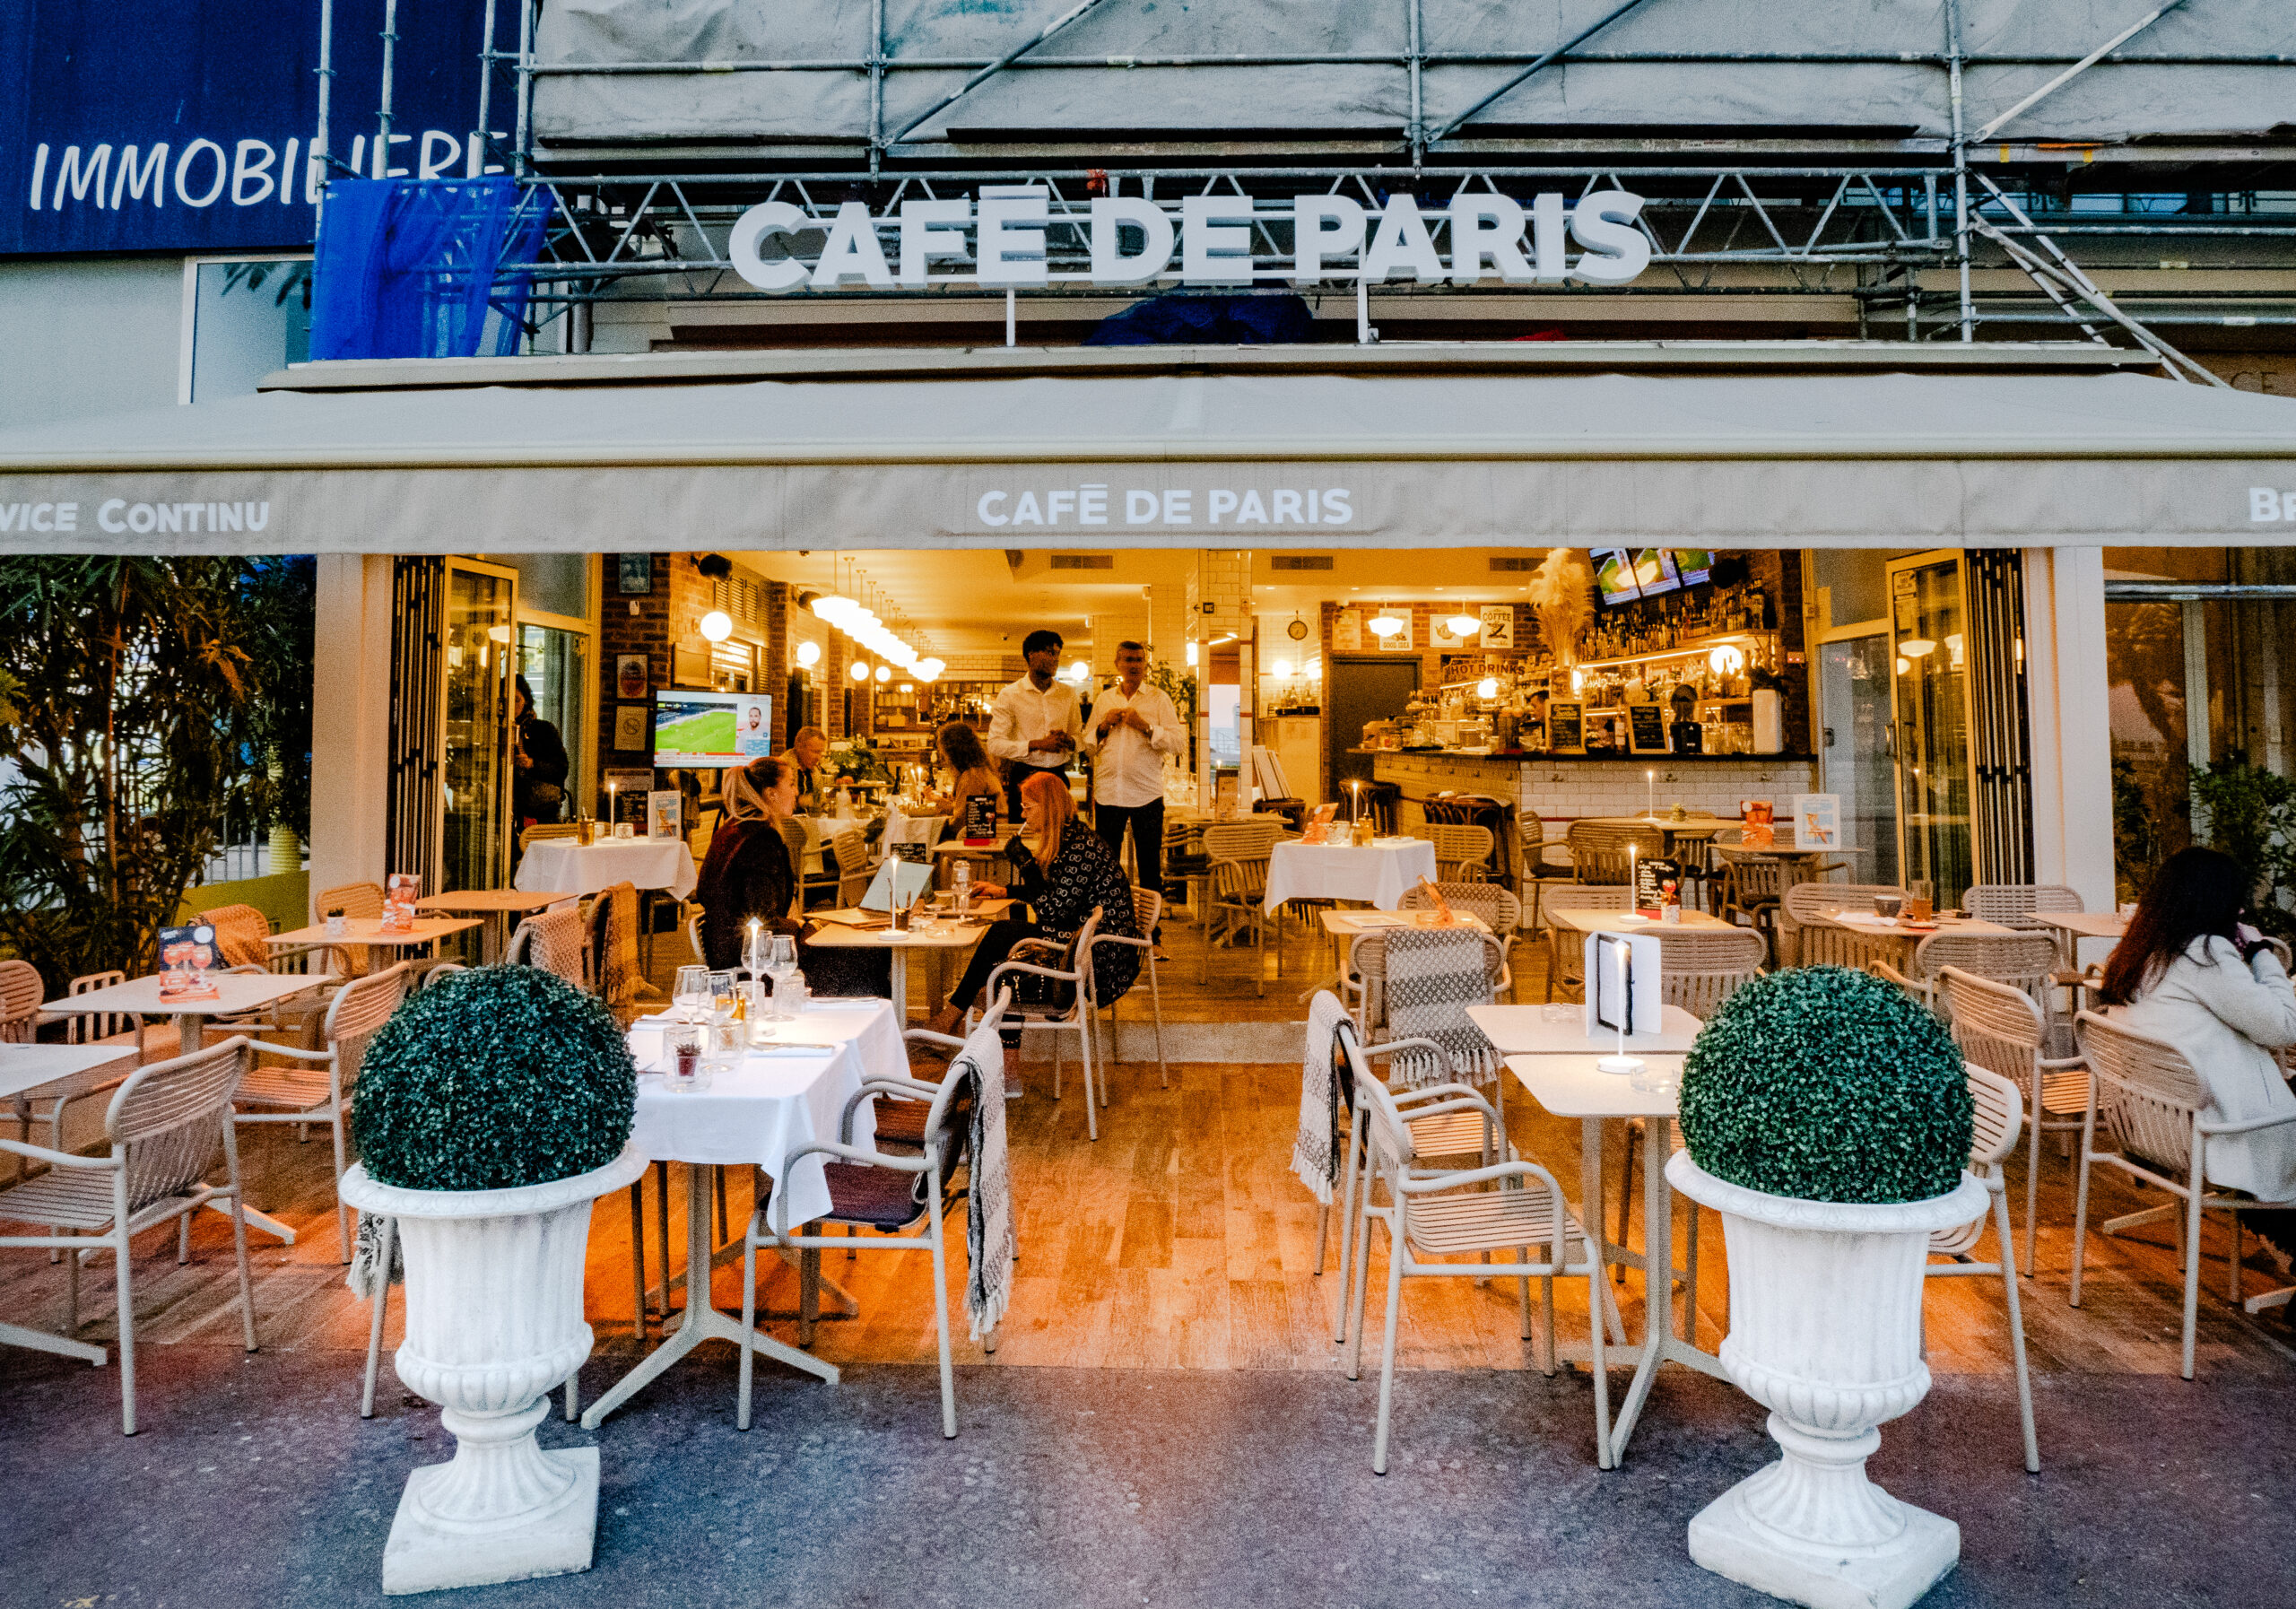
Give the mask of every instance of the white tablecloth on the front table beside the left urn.
<path id="1" fill-rule="evenodd" d="M 788 1157 L 801 1145 L 838 1138 L 838 1113 L 870 1074 L 907 1076 L 909 1058 L 891 1001 L 815 1001 L 804 1019 L 781 1024 L 783 1037 L 833 1040 L 813 1054 L 753 1051 L 707 1090 L 670 1093 L 661 1076 L 664 1028 L 638 1024 L 629 1054 L 638 1060 L 638 1113 L 629 1141 L 650 1161 L 758 1164 L 790 1191 L 790 1223 L 829 1212 L 822 1157 Z M 854 1113 L 854 1145 L 877 1138 L 868 1106 Z"/>

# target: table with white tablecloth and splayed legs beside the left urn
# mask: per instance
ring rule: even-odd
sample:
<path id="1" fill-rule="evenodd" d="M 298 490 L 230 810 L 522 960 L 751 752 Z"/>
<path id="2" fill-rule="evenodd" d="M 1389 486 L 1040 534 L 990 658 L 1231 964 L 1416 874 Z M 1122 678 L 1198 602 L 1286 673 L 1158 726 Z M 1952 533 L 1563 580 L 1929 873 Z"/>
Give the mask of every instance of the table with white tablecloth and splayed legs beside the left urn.
<path id="1" fill-rule="evenodd" d="M 687 1311 L 677 1329 L 664 1336 L 643 1363 L 590 1405 L 581 1416 L 585 1430 L 597 1430 L 606 1414 L 700 1343 L 742 1343 L 742 1324 L 709 1301 L 714 1269 L 709 1168 L 765 1168 L 774 1177 L 774 1189 L 788 1191 L 790 1223 L 810 1223 L 829 1212 L 824 1164 L 813 1155 L 792 1166 L 790 1152 L 838 1138 L 838 1118 L 845 1102 L 859 1095 L 863 1076 L 872 1072 L 907 1076 L 909 1070 L 889 1001 L 810 1001 L 799 1019 L 774 1024 L 774 1044 L 751 1047 L 732 1070 L 716 1074 L 707 1090 L 666 1088 L 661 1074 L 668 1065 L 668 1026 L 670 1019 L 650 1017 L 629 1031 L 629 1051 L 638 1063 L 638 1109 L 629 1141 L 650 1161 L 687 1164 Z M 875 1138 L 877 1125 L 863 1102 L 854 1111 L 852 1143 L 868 1148 Z M 668 1269 L 661 1278 L 666 1292 Z M 758 1334 L 751 1334 L 751 1345 L 790 1368 L 829 1384 L 838 1382 L 833 1363 L 822 1363 L 797 1347 Z"/>

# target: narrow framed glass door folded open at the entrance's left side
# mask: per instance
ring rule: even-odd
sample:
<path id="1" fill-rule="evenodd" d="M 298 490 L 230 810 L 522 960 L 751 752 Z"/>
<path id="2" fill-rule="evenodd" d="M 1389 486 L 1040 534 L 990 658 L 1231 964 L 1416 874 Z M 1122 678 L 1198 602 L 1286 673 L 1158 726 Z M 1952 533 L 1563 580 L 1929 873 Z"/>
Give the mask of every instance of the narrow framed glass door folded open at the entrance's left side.
<path id="1" fill-rule="evenodd" d="M 510 879 L 510 677 L 517 617 L 517 572 L 448 562 L 436 893 L 501 888 Z"/>

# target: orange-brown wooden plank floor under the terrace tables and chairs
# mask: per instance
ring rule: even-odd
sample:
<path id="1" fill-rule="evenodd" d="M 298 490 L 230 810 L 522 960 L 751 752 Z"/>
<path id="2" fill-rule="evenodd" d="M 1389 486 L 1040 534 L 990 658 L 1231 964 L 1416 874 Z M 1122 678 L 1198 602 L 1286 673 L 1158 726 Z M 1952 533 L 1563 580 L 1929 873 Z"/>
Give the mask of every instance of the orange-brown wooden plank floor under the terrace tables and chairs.
<path id="1" fill-rule="evenodd" d="M 1313 1274 L 1316 1207 L 1288 1168 L 1297 1072 L 1279 1065 L 1173 1067 L 1159 1088 L 1155 1067 L 1123 1067 L 1102 1113 L 1102 1138 L 1084 1136 L 1075 1083 L 1049 1097 L 1031 1070 L 1026 1097 L 1008 1106 L 1013 1182 L 1019 1228 L 1019 1278 L 994 1361 L 1006 1366 L 1102 1368 L 1334 1368 L 1332 1313 L 1336 1278 Z M 1511 1132 L 1525 1155 L 1543 1159 L 1577 1194 L 1577 1125 L 1508 1102 Z M 1612 1145 L 1616 1148 L 1616 1138 Z M 253 1237 L 257 1322 L 266 1347 L 347 1347 L 367 1336 L 367 1308 L 342 1285 L 338 1262 L 328 1145 L 298 1145 L 292 1129 L 253 1134 L 250 1198 L 296 1226 L 301 1239 L 278 1246 Z M 1616 1191 L 1616 1173 L 1612 1175 Z M 732 1210 L 746 1214 L 748 1184 L 730 1177 Z M 2014 1200 L 2023 1203 L 2023 1180 Z M 670 1246 L 684 1246 L 684 1177 L 673 1171 Z M 2096 1217 L 2151 1205 L 2101 1173 Z M 654 1235 L 647 1189 L 647 1242 Z M 1681 1203 L 1676 1228 L 1683 1228 Z M 2025 1281 L 2025 1327 L 2039 1375 L 2151 1373 L 2174 1375 L 2179 1352 L 2179 1281 L 2165 1226 L 2135 1237 L 2092 1235 L 2085 1306 L 2066 1306 L 2071 1249 L 2069 1168 L 2043 1161 L 2039 1278 Z M 1699 1340 L 1713 1347 L 1724 1311 L 1720 1226 L 1704 1221 L 1704 1283 L 1697 1292 Z M 1639 1214 L 1635 1237 L 1639 1242 Z M 983 1361 L 964 1340 L 962 1230 L 951 1258 L 951 1306 L 957 1359 Z M 599 1203 L 590 1230 L 588 1313 L 602 1352 L 634 1357 L 627 1196 Z M 866 1244 L 866 1242 L 863 1242 Z M 1991 1242 L 1988 1242 L 1991 1244 Z M 2296 1354 L 2278 1320 L 2248 1320 L 2225 1304 L 2223 1237 L 2211 1221 L 2209 1278 L 2202 1292 L 2202 1379 L 2225 1375 L 2287 1377 Z M 2250 1246 L 2255 1242 L 2250 1239 Z M 650 1256 L 652 1265 L 652 1256 Z M 659 1278 L 659 1267 L 650 1267 Z M 60 1324 L 64 1269 L 46 1253 L 0 1256 L 0 1317 L 53 1329 Z M 829 1253 L 827 1274 L 847 1285 L 856 1315 L 820 1327 L 815 1350 L 831 1361 L 930 1363 L 932 1308 L 925 1253 Z M 1378 1267 L 1375 1267 L 1378 1274 Z M 200 1219 L 193 1260 L 177 1267 L 172 1233 L 149 1235 L 135 1258 L 138 1338 L 145 1343 L 232 1343 L 239 1334 L 230 1228 Z M 2257 1256 L 2245 1272 L 2250 1292 L 2271 1288 Z M 1616 1288 L 1630 1334 L 1642 1334 L 1639 1274 Z M 739 1306 L 739 1265 L 721 1267 L 714 1299 Z M 673 1301 L 682 1295 L 673 1295 Z M 769 1306 L 794 1301 L 794 1276 L 776 1269 Z M 106 1343 L 113 1324 L 108 1260 L 83 1272 L 80 1336 Z M 1373 1278 L 1371 1334 L 1380 1331 L 1380 1283 Z M 1933 1281 L 1929 1292 L 1931 1366 L 2000 1373 L 2009 1366 L 2002 1295 L 1995 1278 Z M 790 1336 L 794 1324 L 776 1322 Z M 397 1308 L 388 1331 L 397 1343 Z M 654 1329 L 659 1336 L 659 1327 Z M 1559 1340 L 1584 1345 L 1584 1295 L 1559 1288 Z M 1527 1368 L 1534 1343 L 1518 1336 L 1513 1290 L 1472 1281 L 1419 1281 L 1405 1290 L 1405 1368 Z M 347 1363 L 347 1368 L 354 1368 Z"/>

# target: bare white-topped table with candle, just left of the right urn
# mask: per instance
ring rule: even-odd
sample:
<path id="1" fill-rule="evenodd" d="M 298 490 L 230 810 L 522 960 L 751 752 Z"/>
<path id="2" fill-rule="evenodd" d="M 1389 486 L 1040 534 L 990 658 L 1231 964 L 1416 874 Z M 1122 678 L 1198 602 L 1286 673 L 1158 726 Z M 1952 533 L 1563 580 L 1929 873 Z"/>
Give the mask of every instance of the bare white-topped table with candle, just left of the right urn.
<path id="1" fill-rule="evenodd" d="M 1490 1031 L 1486 1028 L 1486 1033 Z M 1589 1242 L 1603 1246 L 1600 1258 L 1605 1267 L 1623 1262 L 1642 1269 L 1642 1361 L 1635 1366 L 1635 1379 L 1626 1386 L 1619 1416 L 1609 1428 L 1609 1458 L 1612 1467 L 1616 1467 L 1626 1458 L 1626 1441 L 1635 1435 L 1635 1421 L 1651 1398 L 1651 1379 L 1658 1375 L 1660 1363 L 1688 1363 L 1715 1379 L 1729 1379 L 1729 1375 L 1722 1373 L 1722 1359 L 1713 1352 L 1701 1352 L 1678 1336 L 1674 1327 L 1674 1189 L 1667 1184 L 1667 1157 L 1674 1150 L 1676 1097 L 1674 1093 L 1637 1090 L 1632 1079 L 1616 1072 L 1598 1072 L 1596 1060 L 1596 1056 L 1587 1054 L 1508 1056 L 1506 1070 L 1552 1116 L 1580 1120 L 1580 1191 L 1584 1198 L 1580 1228 L 1587 1230 Z M 1644 1060 L 1653 1063 L 1653 1070 L 1669 1070 L 1676 1086 L 1681 1083 L 1681 1056 L 1649 1054 Z M 1639 1253 L 1603 1237 L 1603 1221 L 1607 1217 L 1603 1212 L 1603 1125 L 1623 1118 L 1642 1118 L 1644 1251 Z M 1699 1297 L 1692 1290 L 1685 1301 L 1692 1336 L 1697 1334 L 1697 1304 Z M 1600 1324 L 1603 1315 L 1591 1315 L 1591 1322 Z"/>

